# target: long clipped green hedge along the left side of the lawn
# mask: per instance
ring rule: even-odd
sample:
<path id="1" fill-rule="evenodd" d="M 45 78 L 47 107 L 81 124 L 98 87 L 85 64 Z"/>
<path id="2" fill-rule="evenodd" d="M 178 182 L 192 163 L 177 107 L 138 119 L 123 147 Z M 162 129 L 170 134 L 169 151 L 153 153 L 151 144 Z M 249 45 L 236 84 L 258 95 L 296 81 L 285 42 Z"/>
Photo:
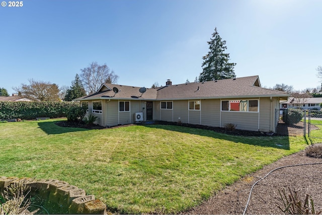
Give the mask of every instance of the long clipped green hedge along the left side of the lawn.
<path id="1" fill-rule="evenodd" d="M 65 117 L 66 111 L 79 107 L 77 102 L 0 102 L 0 119 Z"/>

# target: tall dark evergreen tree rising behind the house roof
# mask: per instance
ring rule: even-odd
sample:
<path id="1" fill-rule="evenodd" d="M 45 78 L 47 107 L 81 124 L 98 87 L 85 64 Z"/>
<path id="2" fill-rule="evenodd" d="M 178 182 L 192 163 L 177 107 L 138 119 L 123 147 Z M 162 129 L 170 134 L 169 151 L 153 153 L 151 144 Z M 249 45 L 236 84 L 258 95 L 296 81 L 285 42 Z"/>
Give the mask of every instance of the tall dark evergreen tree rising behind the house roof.
<path id="1" fill-rule="evenodd" d="M 220 79 L 235 78 L 236 75 L 233 71 L 233 67 L 236 63 L 229 63 L 229 54 L 224 53 L 227 47 L 226 41 L 221 40 L 215 28 L 215 32 L 212 34 L 212 38 L 209 42 L 208 54 L 203 56 L 202 73 L 200 73 L 199 81 L 212 81 Z"/>

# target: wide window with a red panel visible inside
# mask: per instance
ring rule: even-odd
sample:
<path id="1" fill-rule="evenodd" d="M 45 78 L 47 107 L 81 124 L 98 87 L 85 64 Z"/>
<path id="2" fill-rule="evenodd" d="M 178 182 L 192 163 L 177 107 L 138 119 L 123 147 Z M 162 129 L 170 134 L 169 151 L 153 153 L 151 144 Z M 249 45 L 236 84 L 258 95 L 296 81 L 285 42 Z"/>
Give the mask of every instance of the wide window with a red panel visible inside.
<path id="1" fill-rule="evenodd" d="M 258 100 L 221 101 L 222 111 L 258 112 Z"/>

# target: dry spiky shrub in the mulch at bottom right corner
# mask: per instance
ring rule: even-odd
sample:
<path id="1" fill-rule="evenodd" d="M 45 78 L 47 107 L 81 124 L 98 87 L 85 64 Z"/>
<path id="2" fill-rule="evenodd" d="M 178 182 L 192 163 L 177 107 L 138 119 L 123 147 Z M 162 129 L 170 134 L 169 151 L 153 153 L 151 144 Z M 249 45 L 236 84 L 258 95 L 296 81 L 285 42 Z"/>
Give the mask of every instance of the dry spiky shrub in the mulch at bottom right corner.
<path id="1" fill-rule="evenodd" d="M 286 214 L 320 214 L 321 211 L 316 212 L 314 208 L 313 199 L 309 194 L 306 194 L 304 201 L 302 201 L 300 194 L 294 190 L 291 191 L 288 188 L 290 193 L 286 195 L 285 190 L 278 190 L 282 201 L 283 201 L 283 209 L 280 205 L 277 205 L 279 209 L 281 209 Z"/>

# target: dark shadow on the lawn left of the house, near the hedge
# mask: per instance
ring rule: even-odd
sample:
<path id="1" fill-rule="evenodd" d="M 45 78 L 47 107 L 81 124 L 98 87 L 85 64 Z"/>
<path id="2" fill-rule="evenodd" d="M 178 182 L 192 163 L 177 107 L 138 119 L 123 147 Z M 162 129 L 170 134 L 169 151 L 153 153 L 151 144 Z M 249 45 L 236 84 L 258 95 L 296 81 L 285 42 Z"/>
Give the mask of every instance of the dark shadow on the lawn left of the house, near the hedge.
<path id="1" fill-rule="evenodd" d="M 61 134 L 61 133 L 69 133 L 75 131 L 84 131 L 88 130 L 87 128 L 79 128 L 79 127 L 62 127 L 56 125 L 57 122 L 38 122 L 38 126 L 47 134 Z"/>

